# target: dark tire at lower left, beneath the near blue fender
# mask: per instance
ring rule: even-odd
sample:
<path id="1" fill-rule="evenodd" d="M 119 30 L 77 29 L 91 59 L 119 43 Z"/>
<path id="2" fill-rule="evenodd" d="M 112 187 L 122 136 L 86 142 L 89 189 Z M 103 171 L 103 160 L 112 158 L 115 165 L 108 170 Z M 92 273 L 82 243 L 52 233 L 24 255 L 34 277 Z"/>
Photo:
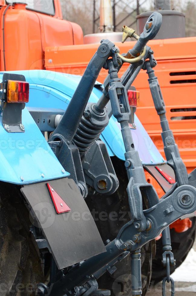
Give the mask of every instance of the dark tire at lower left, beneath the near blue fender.
<path id="1" fill-rule="evenodd" d="M 36 295 L 43 280 L 29 230 L 29 213 L 18 188 L 0 182 L 0 295 Z"/>

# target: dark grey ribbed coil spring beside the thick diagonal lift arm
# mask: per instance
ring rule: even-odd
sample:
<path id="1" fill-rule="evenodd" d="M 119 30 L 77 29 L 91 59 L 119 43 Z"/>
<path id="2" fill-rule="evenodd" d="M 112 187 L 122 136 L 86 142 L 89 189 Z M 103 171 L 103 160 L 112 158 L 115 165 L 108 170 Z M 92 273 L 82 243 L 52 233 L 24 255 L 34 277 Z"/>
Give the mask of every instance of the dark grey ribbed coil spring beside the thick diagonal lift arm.
<path id="1" fill-rule="evenodd" d="M 73 138 L 73 142 L 76 144 L 80 152 L 87 151 L 97 140 L 104 130 L 106 125 L 95 126 L 88 118 L 82 115 L 79 127 Z"/>

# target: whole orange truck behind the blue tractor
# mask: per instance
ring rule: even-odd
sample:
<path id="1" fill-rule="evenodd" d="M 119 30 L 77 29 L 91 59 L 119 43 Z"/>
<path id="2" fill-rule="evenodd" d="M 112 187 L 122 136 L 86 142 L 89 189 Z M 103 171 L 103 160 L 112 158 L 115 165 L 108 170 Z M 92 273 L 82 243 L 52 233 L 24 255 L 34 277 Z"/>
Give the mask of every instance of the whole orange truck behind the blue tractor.
<path id="1" fill-rule="evenodd" d="M 59 0 L 23 2 L 26 4 L 0 0 L 0 70 L 46 69 L 82 75 L 98 44 L 83 43 L 82 28 L 63 20 Z M 135 44 L 134 41 L 115 43 L 120 53 L 126 53 Z M 196 37 L 151 40 L 148 44 L 158 62 L 156 75 L 170 127 L 188 172 L 191 172 L 196 166 Z M 120 75 L 126 67 L 125 63 Z M 103 82 L 106 76 L 107 71 L 103 69 L 99 81 Z M 137 116 L 164 156 L 159 117 L 145 71 L 137 76 L 134 86 L 140 91 Z M 147 172 L 146 178 L 162 196 L 162 189 Z M 187 231 L 191 221 L 175 222 L 171 227 L 177 232 Z"/>

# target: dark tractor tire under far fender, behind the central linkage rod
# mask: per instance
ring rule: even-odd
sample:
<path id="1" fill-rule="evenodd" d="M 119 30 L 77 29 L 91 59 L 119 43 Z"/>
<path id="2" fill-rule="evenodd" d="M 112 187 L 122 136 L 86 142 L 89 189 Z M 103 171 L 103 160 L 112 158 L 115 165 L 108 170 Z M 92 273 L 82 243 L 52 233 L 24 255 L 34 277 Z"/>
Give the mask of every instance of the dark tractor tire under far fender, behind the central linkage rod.
<path id="1" fill-rule="evenodd" d="M 101 234 L 103 242 L 114 240 L 120 228 L 131 220 L 130 208 L 127 197 L 127 172 L 124 162 L 116 157 L 111 158 L 114 170 L 119 179 L 119 188 L 112 195 L 95 194 L 85 199 L 89 209 L 97 213 L 95 223 Z M 143 205 L 145 207 L 145 204 Z M 103 219 L 98 213 L 103 213 Z M 113 221 L 110 218 L 112 212 L 117 213 L 118 219 Z M 141 248 L 141 270 L 142 270 L 142 295 L 145 295 L 149 287 L 152 275 L 152 259 L 155 256 L 155 241 L 146 243 Z M 108 289 L 111 296 L 128 296 L 131 295 L 131 258 L 130 254 L 122 261 L 115 264 L 116 271 L 109 270 L 98 279 L 100 289 Z M 113 272 L 111 274 L 111 272 Z"/>

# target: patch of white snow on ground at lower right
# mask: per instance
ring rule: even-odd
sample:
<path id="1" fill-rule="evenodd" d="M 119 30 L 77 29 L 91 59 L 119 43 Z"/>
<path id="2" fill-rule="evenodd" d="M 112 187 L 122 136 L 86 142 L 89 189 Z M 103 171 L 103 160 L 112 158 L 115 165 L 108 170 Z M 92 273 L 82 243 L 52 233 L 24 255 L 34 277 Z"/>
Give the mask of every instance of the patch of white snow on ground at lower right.
<path id="1" fill-rule="evenodd" d="M 196 282 L 196 252 L 191 249 L 185 261 L 172 273 L 176 282 Z"/>

